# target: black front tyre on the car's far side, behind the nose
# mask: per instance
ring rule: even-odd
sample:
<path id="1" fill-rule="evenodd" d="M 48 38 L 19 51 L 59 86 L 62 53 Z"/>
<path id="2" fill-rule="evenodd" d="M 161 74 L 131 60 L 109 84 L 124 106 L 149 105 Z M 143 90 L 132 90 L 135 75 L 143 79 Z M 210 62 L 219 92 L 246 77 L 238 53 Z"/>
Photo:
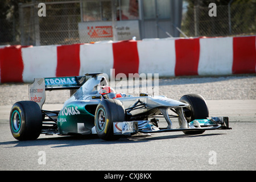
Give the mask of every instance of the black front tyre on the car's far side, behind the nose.
<path id="1" fill-rule="evenodd" d="M 207 119 L 209 117 L 208 106 L 200 94 L 187 94 L 180 98 L 180 102 L 188 104 L 188 107 L 183 107 L 183 112 L 187 122 L 194 119 Z M 202 134 L 202 131 L 183 131 L 184 134 Z"/>

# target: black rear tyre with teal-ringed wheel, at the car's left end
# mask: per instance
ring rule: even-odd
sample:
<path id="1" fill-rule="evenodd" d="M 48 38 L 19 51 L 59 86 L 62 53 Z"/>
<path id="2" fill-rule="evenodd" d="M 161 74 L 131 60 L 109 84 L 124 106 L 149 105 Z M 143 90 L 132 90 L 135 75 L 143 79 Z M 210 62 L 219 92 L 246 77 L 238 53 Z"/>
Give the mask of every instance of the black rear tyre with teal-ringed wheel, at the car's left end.
<path id="1" fill-rule="evenodd" d="M 11 134 L 17 140 L 34 140 L 42 131 L 42 111 L 34 101 L 16 102 L 10 113 Z"/>

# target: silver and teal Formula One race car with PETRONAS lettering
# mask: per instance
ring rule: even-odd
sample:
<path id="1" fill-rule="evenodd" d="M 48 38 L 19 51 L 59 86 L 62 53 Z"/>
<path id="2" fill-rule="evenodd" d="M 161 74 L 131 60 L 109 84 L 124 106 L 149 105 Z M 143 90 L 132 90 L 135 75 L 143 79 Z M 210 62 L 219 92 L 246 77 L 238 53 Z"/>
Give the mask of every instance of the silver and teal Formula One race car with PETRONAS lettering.
<path id="1" fill-rule="evenodd" d="M 86 76 L 89 76 L 86 81 Z M 18 140 L 32 140 L 40 134 L 97 134 L 104 140 L 122 135 L 183 131 L 201 134 L 205 130 L 230 129 L 228 117 L 208 119 L 207 104 L 199 94 L 188 94 L 179 101 L 165 96 L 111 99 L 99 92 L 108 85 L 101 73 L 85 76 L 35 78 L 28 86 L 29 100 L 16 102 L 10 113 L 10 129 Z M 70 89 L 71 97 L 61 110 L 43 110 L 46 90 Z M 168 111 L 174 114 L 169 114 Z M 164 117 L 167 127 L 158 127 L 157 117 Z M 173 129 L 170 118 L 176 117 L 179 128 Z"/>

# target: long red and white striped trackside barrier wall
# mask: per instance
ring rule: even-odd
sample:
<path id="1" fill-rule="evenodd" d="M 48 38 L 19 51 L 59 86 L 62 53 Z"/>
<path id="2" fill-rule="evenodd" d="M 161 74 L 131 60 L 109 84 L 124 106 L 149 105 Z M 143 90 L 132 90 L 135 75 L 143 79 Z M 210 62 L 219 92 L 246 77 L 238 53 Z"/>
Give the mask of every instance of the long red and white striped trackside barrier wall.
<path id="1" fill-rule="evenodd" d="M 0 47 L 0 81 L 88 72 L 159 76 L 256 73 L 256 36 L 99 42 L 64 46 Z M 110 73 L 115 69 L 114 75 Z"/>

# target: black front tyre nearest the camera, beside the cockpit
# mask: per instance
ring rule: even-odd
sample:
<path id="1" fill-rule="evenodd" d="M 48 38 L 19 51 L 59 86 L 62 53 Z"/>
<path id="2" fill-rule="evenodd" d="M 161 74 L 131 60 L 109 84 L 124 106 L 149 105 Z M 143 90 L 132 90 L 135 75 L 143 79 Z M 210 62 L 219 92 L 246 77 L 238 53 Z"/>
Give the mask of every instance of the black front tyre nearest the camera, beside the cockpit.
<path id="1" fill-rule="evenodd" d="M 113 131 L 115 121 L 125 121 L 125 108 L 122 102 L 115 99 L 102 100 L 94 117 L 98 137 L 104 140 L 118 140 L 120 135 L 114 135 Z"/>

